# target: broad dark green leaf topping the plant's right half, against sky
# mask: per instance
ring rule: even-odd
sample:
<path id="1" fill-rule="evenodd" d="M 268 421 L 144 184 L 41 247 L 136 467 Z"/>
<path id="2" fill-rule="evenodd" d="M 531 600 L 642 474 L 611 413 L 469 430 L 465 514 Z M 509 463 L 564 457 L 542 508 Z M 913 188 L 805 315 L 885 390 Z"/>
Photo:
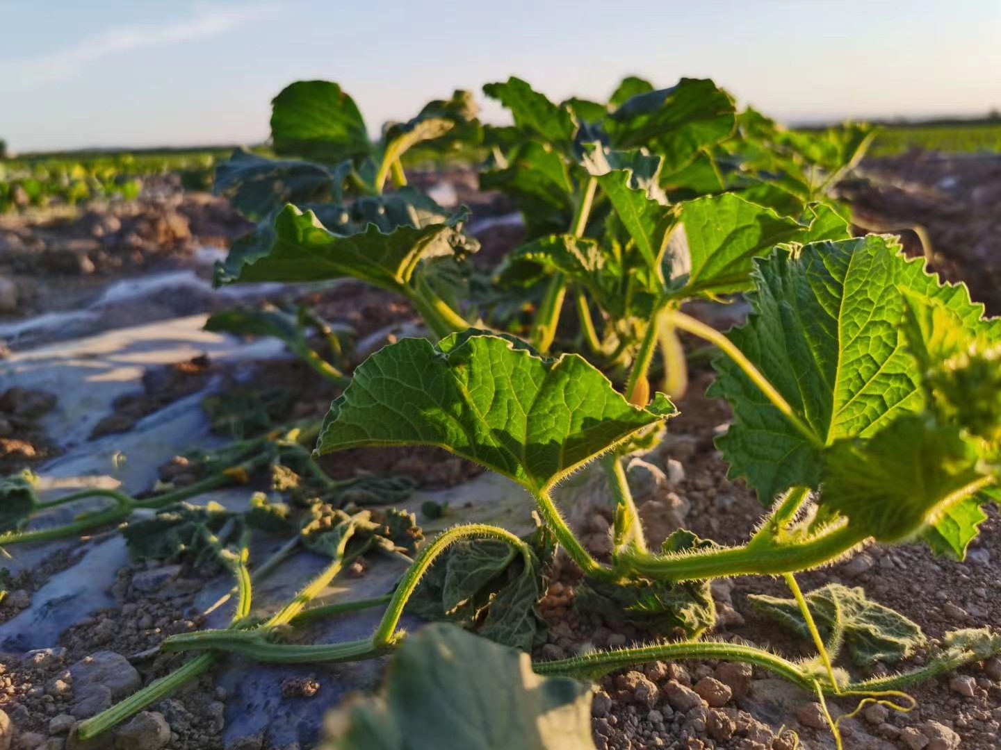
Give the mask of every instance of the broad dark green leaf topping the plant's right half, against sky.
<path id="1" fill-rule="evenodd" d="M 682 169 L 699 153 L 734 130 L 734 102 L 709 80 L 683 78 L 670 89 L 637 94 L 607 123 L 616 148 L 647 146 L 664 157 L 665 176 Z"/>

